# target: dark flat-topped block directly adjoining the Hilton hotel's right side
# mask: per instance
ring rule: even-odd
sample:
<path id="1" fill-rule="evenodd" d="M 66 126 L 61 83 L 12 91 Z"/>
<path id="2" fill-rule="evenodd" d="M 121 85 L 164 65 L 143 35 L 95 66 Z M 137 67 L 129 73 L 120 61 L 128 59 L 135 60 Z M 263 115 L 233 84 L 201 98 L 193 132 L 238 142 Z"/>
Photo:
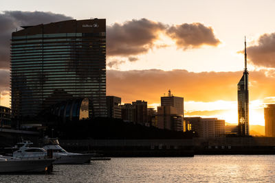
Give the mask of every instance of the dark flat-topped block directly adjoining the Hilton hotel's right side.
<path id="1" fill-rule="evenodd" d="M 106 96 L 107 117 L 121 119 L 121 98 L 115 96 Z"/>

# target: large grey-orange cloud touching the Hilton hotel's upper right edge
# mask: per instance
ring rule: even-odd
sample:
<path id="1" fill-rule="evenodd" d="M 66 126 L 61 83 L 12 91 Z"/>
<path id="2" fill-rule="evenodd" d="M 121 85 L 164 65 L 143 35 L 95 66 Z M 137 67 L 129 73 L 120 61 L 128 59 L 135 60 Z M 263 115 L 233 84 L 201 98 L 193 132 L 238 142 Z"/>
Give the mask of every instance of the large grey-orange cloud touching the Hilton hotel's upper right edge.
<path id="1" fill-rule="evenodd" d="M 107 26 L 107 54 L 131 56 L 146 53 L 166 25 L 147 19 L 126 21 Z"/>

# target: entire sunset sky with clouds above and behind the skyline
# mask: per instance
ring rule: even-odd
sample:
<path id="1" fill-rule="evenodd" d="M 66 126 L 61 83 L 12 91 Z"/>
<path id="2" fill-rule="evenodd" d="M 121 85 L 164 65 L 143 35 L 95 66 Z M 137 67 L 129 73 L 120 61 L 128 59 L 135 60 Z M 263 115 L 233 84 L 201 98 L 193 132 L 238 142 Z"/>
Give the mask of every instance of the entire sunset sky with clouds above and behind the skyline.
<path id="1" fill-rule="evenodd" d="M 10 36 L 20 25 L 107 19 L 107 95 L 155 107 L 170 89 L 185 116 L 237 123 L 236 84 L 250 72 L 250 124 L 275 103 L 275 1 L 0 2 L 1 105 L 9 106 Z M 34 12 L 36 11 L 36 12 Z"/>

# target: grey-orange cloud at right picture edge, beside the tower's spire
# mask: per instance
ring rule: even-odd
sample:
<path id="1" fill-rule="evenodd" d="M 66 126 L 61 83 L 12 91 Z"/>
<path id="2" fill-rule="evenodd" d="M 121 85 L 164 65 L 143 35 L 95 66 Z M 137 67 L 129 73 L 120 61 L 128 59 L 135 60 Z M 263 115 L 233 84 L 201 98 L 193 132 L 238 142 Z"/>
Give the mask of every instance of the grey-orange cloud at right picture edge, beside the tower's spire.
<path id="1" fill-rule="evenodd" d="M 256 66 L 275 68 L 275 33 L 263 34 L 258 43 L 248 47 L 249 61 Z"/>

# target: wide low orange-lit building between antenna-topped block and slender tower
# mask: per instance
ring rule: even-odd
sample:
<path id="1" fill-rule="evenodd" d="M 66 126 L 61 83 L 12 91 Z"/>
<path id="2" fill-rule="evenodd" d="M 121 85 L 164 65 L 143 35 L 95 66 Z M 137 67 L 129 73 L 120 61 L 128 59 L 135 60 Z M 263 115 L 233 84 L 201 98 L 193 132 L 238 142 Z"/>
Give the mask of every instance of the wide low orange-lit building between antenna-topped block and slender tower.
<path id="1" fill-rule="evenodd" d="M 197 132 L 199 137 L 225 136 L 225 120 L 201 117 L 186 117 L 184 120 L 191 124 L 192 131 Z"/>

